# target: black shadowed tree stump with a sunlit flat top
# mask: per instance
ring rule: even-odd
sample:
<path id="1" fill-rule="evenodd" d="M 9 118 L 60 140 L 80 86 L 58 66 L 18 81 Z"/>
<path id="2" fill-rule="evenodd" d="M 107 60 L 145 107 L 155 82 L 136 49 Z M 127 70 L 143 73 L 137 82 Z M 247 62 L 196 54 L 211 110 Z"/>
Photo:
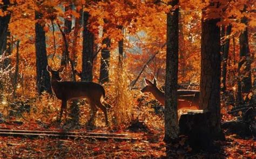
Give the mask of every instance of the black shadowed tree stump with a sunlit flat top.
<path id="1" fill-rule="evenodd" d="M 213 150 L 216 134 L 211 131 L 210 115 L 208 111 L 199 110 L 187 112 L 180 117 L 180 134 L 188 136 L 188 144 L 193 150 Z M 225 136 L 221 138 L 225 139 Z"/>

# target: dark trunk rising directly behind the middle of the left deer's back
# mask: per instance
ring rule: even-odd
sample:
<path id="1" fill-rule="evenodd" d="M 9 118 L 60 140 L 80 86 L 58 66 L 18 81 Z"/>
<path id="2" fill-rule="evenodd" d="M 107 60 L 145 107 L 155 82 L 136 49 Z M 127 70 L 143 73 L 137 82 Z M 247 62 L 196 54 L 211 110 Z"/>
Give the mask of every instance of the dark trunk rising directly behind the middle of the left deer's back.
<path id="1" fill-rule="evenodd" d="M 89 31 L 89 12 L 84 12 L 82 80 L 92 81 L 94 34 Z"/>

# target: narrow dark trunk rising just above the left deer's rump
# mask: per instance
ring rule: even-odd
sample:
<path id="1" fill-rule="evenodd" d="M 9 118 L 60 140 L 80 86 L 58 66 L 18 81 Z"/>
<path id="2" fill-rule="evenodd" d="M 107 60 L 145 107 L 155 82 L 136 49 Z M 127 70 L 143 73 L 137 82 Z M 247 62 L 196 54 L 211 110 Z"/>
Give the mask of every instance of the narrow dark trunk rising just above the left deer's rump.
<path id="1" fill-rule="evenodd" d="M 104 33 L 105 30 L 103 30 Z M 100 57 L 99 83 L 109 82 L 110 43 L 110 38 L 105 38 L 102 41 L 102 44 L 105 44 L 106 47 L 102 49 L 102 56 Z"/>

